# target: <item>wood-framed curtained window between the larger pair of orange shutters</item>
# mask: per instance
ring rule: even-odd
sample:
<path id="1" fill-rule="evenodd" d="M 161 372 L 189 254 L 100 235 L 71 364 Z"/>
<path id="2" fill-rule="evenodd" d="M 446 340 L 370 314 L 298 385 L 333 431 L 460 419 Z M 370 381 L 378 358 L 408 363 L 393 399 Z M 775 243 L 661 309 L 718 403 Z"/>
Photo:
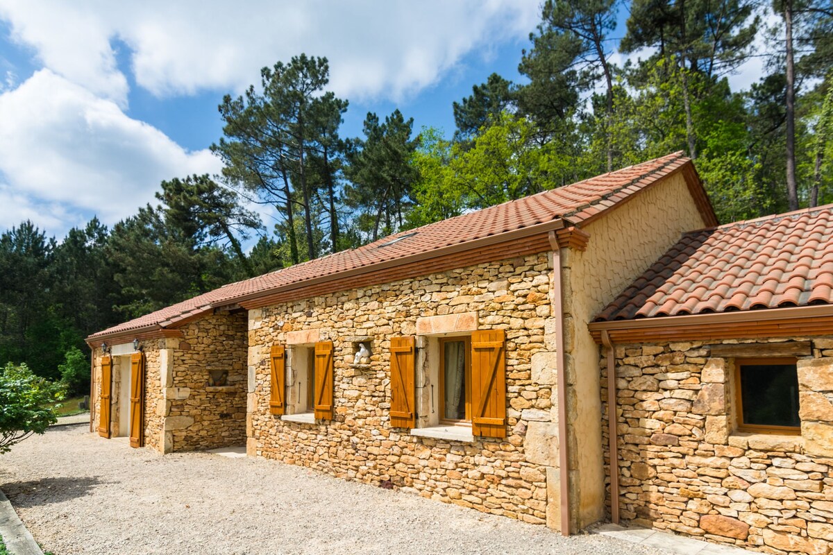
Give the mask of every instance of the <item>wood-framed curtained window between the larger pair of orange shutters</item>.
<path id="1" fill-rule="evenodd" d="M 471 422 L 471 338 L 440 339 L 440 419 Z"/>

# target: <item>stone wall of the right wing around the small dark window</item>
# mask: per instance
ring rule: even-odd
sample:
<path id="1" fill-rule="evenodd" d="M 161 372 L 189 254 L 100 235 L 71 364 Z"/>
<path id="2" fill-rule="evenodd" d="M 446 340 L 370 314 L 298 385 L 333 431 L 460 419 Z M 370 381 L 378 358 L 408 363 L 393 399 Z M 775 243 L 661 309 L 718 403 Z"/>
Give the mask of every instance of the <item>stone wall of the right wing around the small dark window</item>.
<path id="1" fill-rule="evenodd" d="M 766 553 L 830 553 L 833 339 L 813 338 L 798 359 L 801 435 L 737 432 L 734 359 L 711 356 L 711 344 L 783 341 L 616 345 L 623 521 Z"/>

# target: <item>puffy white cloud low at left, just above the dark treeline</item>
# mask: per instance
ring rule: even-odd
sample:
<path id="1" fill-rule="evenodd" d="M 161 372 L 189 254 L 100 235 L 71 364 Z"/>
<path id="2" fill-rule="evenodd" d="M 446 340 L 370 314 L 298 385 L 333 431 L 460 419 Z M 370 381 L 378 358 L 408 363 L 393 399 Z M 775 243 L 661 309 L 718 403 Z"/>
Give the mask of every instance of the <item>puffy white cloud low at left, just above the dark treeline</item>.
<path id="1" fill-rule="evenodd" d="M 0 95 L 0 121 L 0 228 L 30 218 L 60 236 L 92 213 L 112 224 L 163 179 L 221 167 L 49 70 Z"/>

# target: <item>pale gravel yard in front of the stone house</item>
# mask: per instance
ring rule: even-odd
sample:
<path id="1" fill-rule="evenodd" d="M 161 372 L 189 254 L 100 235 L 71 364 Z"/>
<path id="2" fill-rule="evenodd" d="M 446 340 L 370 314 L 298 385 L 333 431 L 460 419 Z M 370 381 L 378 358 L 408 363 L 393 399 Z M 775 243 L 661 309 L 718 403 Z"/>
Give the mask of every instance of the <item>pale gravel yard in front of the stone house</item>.
<path id="1" fill-rule="evenodd" d="M 0 489 L 44 551 L 72 553 L 629 553 L 658 549 L 374 488 L 262 458 L 162 457 L 49 429 L 0 456 Z"/>

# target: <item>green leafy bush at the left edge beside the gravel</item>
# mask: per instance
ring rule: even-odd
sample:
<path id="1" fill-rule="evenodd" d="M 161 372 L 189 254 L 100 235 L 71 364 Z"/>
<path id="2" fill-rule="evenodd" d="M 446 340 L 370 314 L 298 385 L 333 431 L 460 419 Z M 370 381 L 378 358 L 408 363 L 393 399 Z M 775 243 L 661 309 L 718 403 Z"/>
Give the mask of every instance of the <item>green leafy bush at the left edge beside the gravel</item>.
<path id="1" fill-rule="evenodd" d="M 56 409 L 48 404 L 63 399 L 64 389 L 32 374 L 26 364 L 0 369 L 0 453 L 55 424 Z"/>

